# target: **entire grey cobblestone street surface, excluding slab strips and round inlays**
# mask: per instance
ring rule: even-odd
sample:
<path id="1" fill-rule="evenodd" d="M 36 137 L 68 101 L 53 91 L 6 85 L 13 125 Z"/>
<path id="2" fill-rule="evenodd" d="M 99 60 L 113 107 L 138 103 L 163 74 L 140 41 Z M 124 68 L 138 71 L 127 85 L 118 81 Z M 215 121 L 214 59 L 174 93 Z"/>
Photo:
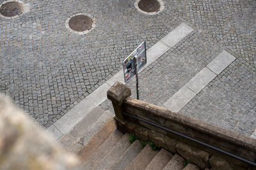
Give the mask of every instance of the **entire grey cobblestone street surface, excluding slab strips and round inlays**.
<path id="1" fill-rule="evenodd" d="M 157 15 L 140 13 L 130 0 L 23 2 L 28 13 L 0 18 L 0 90 L 40 125 L 54 124 L 122 69 L 142 41 L 150 48 L 185 22 L 194 31 L 140 73 L 141 99 L 163 106 L 226 50 L 236 60 L 180 113 L 247 136 L 255 131 L 256 1 L 163 1 Z M 95 28 L 68 31 L 75 13 L 92 15 Z M 128 85 L 134 95 L 134 80 Z M 109 101 L 101 106 L 111 109 Z"/>

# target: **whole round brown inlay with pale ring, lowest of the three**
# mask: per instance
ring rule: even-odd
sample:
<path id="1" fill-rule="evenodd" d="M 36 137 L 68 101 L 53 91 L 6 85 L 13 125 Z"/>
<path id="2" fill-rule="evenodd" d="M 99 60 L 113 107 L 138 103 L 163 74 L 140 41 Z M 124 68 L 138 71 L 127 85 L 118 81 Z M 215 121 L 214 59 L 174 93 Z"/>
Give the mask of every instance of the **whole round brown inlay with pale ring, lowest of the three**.
<path id="1" fill-rule="evenodd" d="M 65 25 L 70 32 L 86 34 L 95 27 L 95 19 L 86 13 L 76 13 L 66 20 Z"/>

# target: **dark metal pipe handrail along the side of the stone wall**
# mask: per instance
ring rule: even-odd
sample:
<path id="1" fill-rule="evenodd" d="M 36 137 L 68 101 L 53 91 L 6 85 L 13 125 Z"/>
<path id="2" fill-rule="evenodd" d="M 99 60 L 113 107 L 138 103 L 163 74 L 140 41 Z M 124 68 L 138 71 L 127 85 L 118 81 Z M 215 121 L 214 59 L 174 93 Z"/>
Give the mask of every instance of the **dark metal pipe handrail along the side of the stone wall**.
<path id="1" fill-rule="evenodd" d="M 143 119 L 143 118 L 136 117 L 136 116 L 131 115 L 131 114 L 129 114 L 129 113 L 124 113 L 124 115 L 127 116 L 127 117 L 132 117 L 132 118 L 135 118 L 135 119 L 137 119 L 137 120 L 140 120 L 141 122 L 145 122 L 145 123 L 147 123 L 147 124 L 153 125 L 154 127 L 158 127 L 159 129 L 163 129 L 164 131 L 171 132 L 172 134 L 176 134 L 177 136 L 180 136 L 180 137 L 182 137 L 182 138 L 186 138 L 186 139 L 188 139 L 188 140 L 190 140 L 190 141 L 193 141 L 193 142 L 198 143 L 198 144 L 200 144 L 200 145 L 206 146 L 207 148 L 211 148 L 212 150 L 216 150 L 216 151 L 218 151 L 218 152 L 220 152 L 220 153 L 223 153 L 223 154 L 225 154 L 225 155 L 228 155 L 228 156 L 233 157 L 233 158 L 235 158 L 235 159 L 241 160 L 242 162 L 246 162 L 247 164 L 250 164 L 251 166 L 255 166 L 255 167 L 256 167 L 256 163 L 255 163 L 255 162 L 252 162 L 252 161 L 250 161 L 250 160 L 244 159 L 244 158 L 242 158 L 242 157 L 239 157 L 239 156 L 237 156 L 237 155 L 234 155 L 233 153 L 229 153 L 229 152 L 227 152 L 227 151 L 225 151 L 225 150 L 221 150 L 220 148 L 216 148 L 215 146 L 209 145 L 209 144 L 204 143 L 204 142 L 202 142 L 202 141 L 198 141 L 197 139 L 191 138 L 191 137 L 189 137 L 189 136 L 186 136 L 185 134 L 181 134 L 180 132 L 173 131 L 173 130 L 171 130 L 171 129 L 168 129 L 168 128 L 163 127 L 163 126 L 158 125 L 158 124 L 155 124 L 155 123 L 150 122 L 150 121 L 148 121 L 148 120 L 145 120 L 145 119 Z"/>

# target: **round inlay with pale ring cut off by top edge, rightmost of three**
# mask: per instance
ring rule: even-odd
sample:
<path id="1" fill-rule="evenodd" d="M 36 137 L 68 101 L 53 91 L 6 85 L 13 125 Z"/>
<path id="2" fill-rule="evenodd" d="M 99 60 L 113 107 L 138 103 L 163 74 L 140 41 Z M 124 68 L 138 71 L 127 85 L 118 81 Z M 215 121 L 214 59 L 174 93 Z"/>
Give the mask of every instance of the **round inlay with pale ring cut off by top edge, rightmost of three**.
<path id="1" fill-rule="evenodd" d="M 147 15 L 156 15 L 164 10 L 162 0 L 136 0 L 134 6 L 138 11 Z"/>

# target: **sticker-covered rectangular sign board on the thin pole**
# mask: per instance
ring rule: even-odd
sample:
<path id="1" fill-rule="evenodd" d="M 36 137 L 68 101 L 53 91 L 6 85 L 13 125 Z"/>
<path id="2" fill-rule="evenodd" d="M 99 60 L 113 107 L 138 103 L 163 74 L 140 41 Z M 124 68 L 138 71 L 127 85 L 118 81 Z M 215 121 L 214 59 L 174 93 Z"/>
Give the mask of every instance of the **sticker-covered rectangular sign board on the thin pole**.
<path id="1" fill-rule="evenodd" d="M 146 43 L 141 43 L 125 60 L 123 63 L 124 67 L 124 81 L 127 83 L 131 78 L 136 74 L 135 73 L 135 56 L 138 56 L 138 70 L 147 64 L 147 55 L 146 55 Z"/>

